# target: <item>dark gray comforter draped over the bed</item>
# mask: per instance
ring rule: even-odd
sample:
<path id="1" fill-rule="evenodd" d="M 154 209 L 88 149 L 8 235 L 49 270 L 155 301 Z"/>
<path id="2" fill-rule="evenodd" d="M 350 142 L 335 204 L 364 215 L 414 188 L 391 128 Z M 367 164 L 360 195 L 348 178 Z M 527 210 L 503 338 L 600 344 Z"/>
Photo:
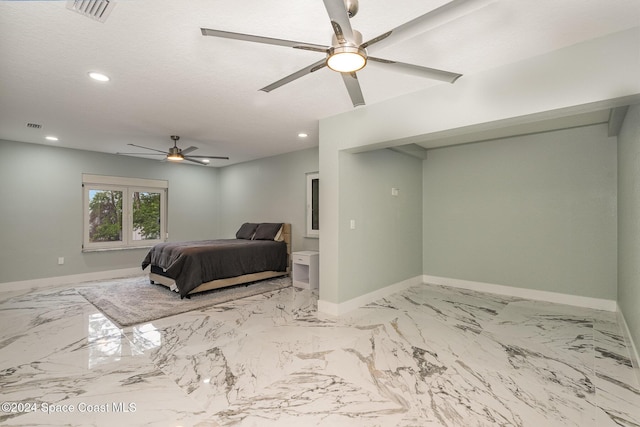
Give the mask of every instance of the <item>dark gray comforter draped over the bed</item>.
<path id="1" fill-rule="evenodd" d="M 220 239 L 155 245 L 142 268 L 156 266 L 184 297 L 200 284 L 262 271 L 287 270 L 287 245 L 272 240 Z"/>

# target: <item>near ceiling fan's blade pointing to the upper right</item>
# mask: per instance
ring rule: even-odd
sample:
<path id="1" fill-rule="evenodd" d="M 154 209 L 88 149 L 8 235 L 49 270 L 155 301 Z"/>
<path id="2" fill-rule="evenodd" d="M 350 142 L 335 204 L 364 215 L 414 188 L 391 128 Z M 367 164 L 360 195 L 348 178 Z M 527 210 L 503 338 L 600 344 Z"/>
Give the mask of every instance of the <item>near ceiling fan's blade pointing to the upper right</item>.
<path id="1" fill-rule="evenodd" d="M 497 0 L 453 0 L 424 15 L 418 16 L 411 21 L 405 22 L 384 34 L 366 41 L 361 47 L 368 47 L 373 44 L 376 49 L 382 49 L 389 45 L 410 39 L 419 34 L 423 34 L 433 28 L 461 18 L 471 12 L 486 7 Z"/>

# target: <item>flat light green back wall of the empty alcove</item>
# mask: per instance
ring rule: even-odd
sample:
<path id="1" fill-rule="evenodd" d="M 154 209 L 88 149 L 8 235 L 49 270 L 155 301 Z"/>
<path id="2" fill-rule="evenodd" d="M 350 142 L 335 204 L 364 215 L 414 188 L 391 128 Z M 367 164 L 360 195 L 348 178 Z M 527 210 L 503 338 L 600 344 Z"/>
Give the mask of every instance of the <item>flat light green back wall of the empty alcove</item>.
<path id="1" fill-rule="evenodd" d="M 606 125 L 430 150 L 423 179 L 425 274 L 615 300 Z"/>

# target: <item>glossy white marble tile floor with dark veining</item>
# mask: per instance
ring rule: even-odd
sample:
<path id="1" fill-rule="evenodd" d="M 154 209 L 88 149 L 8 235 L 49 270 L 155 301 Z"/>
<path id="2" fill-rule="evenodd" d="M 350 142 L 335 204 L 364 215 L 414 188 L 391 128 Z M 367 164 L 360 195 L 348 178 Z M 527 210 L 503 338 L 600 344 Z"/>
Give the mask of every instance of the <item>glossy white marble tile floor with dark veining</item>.
<path id="1" fill-rule="evenodd" d="M 119 329 L 74 288 L 0 294 L 0 425 L 640 426 L 615 313 L 419 285 L 336 318 L 317 298 Z"/>

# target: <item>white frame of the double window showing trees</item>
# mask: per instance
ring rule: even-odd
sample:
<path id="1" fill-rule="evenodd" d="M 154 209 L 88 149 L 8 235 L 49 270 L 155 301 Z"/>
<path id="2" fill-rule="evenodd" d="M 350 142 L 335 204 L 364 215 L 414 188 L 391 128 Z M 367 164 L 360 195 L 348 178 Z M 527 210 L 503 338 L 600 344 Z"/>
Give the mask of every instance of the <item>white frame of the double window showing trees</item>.
<path id="1" fill-rule="evenodd" d="M 122 191 L 122 240 L 117 242 L 89 241 L 89 192 L 91 190 Z M 169 182 L 155 179 L 125 178 L 106 175 L 82 174 L 83 241 L 82 251 L 102 251 L 151 247 L 166 241 L 167 195 Z M 133 193 L 160 193 L 160 238 L 133 240 Z"/>

